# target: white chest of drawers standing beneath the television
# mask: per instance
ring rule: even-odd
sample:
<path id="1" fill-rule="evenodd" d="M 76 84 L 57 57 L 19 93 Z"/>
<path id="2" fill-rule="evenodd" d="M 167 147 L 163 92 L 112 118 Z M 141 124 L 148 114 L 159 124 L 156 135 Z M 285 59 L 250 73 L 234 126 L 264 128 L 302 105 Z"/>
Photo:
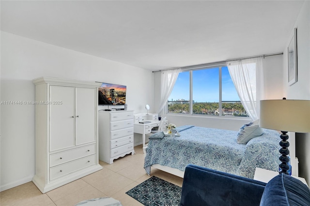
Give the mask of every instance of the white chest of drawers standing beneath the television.
<path id="1" fill-rule="evenodd" d="M 99 111 L 99 160 L 113 160 L 134 150 L 134 113 L 132 110 Z"/>

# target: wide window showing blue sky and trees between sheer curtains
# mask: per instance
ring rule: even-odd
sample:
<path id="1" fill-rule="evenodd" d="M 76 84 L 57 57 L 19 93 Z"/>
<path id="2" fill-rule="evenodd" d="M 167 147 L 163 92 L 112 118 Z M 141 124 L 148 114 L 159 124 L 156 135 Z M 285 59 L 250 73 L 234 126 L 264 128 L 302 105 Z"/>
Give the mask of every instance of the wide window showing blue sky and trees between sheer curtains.
<path id="1" fill-rule="evenodd" d="M 248 117 L 226 65 L 180 73 L 168 99 L 168 112 Z"/>

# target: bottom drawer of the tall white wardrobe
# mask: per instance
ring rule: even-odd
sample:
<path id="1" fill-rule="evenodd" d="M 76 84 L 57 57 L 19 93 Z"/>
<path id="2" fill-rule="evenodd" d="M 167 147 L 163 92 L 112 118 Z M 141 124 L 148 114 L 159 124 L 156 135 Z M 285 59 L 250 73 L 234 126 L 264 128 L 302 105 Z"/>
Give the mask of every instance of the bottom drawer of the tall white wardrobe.
<path id="1" fill-rule="evenodd" d="M 50 180 L 76 172 L 95 164 L 95 155 L 90 155 L 72 162 L 67 162 L 49 169 Z"/>

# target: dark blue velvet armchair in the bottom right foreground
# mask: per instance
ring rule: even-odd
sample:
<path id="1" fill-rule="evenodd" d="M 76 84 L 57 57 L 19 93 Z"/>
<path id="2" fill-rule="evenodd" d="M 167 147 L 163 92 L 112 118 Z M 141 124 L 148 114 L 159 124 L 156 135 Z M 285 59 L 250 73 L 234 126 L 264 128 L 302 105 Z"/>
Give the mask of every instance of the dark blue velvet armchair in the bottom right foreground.
<path id="1" fill-rule="evenodd" d="M 310 190 L 281 174 L 267 184 L 216 170 L 188 165 L 181 206 L 310 206 Z"/>

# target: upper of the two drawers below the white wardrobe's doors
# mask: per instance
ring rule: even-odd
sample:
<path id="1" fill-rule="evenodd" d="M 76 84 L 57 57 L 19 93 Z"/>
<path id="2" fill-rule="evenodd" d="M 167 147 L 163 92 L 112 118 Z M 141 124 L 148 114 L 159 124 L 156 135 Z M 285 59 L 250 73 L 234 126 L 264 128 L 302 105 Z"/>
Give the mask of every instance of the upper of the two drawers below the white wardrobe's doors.
<path id="1" fill-rule="evenodd" d="M 65 162 L 70 162 L 81 157 L 94 154 L 96 151 L 96 145 L 88 145 L 85 147 L 78 147 L 75 149 L 70 149 L 64 152 L 58 152 L 49 155 L 49 166 L 53 167 Z"/>

